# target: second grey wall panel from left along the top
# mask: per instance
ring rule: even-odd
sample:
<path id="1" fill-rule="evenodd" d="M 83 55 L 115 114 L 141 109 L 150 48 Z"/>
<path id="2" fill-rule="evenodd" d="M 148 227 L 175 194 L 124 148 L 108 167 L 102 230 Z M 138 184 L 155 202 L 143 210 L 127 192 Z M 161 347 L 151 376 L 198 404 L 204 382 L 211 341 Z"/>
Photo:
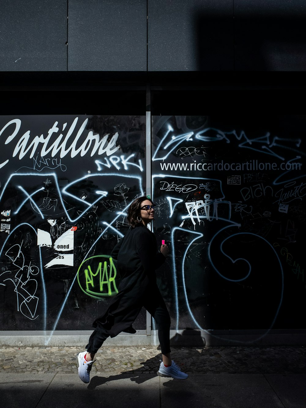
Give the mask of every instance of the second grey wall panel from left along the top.
<path id="1" fill-rule="evenodd" d="M 71 0 L 69 71 L 146 71 L 145 0 Z"/>

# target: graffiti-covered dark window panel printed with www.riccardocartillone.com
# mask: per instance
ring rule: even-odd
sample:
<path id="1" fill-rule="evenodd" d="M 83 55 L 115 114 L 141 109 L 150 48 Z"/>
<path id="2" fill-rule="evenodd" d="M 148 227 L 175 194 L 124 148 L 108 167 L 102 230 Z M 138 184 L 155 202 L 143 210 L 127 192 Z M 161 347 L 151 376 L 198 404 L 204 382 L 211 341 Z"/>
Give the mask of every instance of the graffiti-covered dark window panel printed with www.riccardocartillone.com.
<path id="1" fill-rule="evenodd" d="M 154 232 L 173 329 L 303 329 L 301 115 L 154 116 Z"/>

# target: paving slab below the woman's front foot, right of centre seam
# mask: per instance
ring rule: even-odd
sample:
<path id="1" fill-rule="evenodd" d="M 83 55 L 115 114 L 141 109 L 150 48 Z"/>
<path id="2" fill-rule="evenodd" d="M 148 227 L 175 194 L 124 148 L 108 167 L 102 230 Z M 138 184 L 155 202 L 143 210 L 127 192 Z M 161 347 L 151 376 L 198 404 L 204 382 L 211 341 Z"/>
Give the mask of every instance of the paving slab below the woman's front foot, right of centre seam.
<path id="1" fill-rule="evenodd" d="M 161 407 L 284 408 L 261 374 L 191 374 L 161 379 Z"/>

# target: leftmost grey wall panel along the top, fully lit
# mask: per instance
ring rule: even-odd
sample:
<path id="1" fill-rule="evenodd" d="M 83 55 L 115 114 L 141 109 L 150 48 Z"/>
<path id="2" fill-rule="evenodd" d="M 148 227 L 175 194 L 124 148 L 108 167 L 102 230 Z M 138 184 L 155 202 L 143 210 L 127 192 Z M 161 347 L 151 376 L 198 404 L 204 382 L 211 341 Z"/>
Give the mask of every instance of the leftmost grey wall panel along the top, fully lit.
<path id="1" fill-rule="evenodd" d="M 1 0 L 0 71 L 67 70 L 67 0 Z"/>

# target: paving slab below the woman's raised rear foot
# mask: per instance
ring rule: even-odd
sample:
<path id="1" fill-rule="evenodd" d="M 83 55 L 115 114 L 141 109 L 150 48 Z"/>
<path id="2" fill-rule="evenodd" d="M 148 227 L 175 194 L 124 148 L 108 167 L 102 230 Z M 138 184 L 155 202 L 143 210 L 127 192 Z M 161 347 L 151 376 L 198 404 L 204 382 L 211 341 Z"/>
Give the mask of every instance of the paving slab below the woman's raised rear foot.
<path id="1" fill-rule="evenodd" d="M 37 408 L 58 406 L 65 408 L 102 406 L 103 408 L 146 407 L 159 408 L 159 377 L 157 375 L 118 374 L 91 375 L 84 384 L 77 374 L 57 374 L 44 393 Z"/>

